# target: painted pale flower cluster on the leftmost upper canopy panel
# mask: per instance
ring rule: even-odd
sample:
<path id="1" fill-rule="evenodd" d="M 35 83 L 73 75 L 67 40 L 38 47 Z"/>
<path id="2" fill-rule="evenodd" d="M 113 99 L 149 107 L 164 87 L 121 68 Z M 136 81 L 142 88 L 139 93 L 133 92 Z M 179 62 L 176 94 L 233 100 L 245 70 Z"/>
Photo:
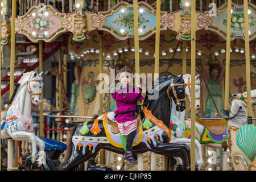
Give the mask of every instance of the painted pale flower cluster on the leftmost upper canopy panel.
<path id="1" fill-rule="evenodd" d="M 53 20 L 41 16 L 33 18 L 32 22 L 27 23 L 27 25 L 34 28 L 39 33 L 43 33 L 44 31 L 49 30 L 54 25 L 54 22 Z"/>

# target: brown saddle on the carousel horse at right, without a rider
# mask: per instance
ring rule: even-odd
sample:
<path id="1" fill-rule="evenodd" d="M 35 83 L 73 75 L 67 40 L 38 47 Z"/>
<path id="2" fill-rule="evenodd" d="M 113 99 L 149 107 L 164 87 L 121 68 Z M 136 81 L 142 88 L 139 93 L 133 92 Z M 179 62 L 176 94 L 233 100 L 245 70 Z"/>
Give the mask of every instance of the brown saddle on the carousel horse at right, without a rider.
<path id="1" fill-rule="evenodd" d="M 221 135 L 226 131 L 226 119 L 220 119 L 217 121 L 203 120 L 196 116 L 196 122 L 203 125 L 214 135 Z"/>

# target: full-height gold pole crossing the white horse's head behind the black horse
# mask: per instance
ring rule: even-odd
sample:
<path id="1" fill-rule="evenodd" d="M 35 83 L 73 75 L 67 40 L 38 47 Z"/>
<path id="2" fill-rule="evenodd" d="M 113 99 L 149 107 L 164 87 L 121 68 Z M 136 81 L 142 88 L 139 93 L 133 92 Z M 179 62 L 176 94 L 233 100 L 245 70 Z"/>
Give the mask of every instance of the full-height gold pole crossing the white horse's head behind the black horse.
<path id="1" fill-rule="evenodd" d="M 191 0 L 191 171 L 195 171 L 196 0 Z"/>

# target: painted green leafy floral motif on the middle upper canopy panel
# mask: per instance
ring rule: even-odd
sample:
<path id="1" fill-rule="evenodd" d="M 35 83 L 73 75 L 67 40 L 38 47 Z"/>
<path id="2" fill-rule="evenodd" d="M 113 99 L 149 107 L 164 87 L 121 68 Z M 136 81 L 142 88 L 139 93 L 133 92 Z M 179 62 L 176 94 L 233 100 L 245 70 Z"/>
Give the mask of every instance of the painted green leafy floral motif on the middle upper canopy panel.
<path id="1" fill-rule="evenodd" d="M 142 14 L 138 14 L 138 23 L 139 28 L 143 26 L 144 23 L 148 22 L 148 19 L 146 20 Z M 133 20 L 133 11 L 129 11 L 123 14 L 119 14 L 118 18 L 113 21 L 113 23 L 117 24 L 118 26 L 127 27 L 130 30 L 134 29 L 134 20 Z M 146 26 L 143 26 L 143 29 Z"/>

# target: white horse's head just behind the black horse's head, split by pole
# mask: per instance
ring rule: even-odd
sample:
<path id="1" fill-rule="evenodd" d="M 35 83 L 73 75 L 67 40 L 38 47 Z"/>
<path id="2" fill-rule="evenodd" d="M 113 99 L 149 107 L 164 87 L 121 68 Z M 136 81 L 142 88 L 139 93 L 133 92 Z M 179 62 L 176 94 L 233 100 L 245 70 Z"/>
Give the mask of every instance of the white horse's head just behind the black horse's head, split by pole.
<path id="1" fill-rule="evenodd" d="M 199 79 L 200 75 L 196 76 L 196 109 L 200 109 L 200 88 L 201 88 L 201 81 Z M 190 107 L 191 107 L 191 75 L 185 74 L 183 76 L 183 79 L 185 81 L 185 94 L 189 99 Z"/>

